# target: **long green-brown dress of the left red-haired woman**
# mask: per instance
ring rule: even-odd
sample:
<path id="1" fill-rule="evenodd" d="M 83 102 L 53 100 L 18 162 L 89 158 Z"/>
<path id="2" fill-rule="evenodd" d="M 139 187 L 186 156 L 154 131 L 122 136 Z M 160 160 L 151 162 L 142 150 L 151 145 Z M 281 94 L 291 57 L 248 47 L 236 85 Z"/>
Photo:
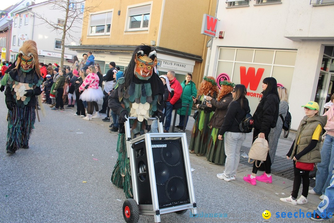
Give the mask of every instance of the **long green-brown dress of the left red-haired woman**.
<path id="1" fill-rule="evenodd" d="M 208 96 L 211 95 L 209 94 Z M 216 93 L 211 97 L 216 98 Z M 191 131 L 189 150 L 194 150 L 198 155 L 205 155 L 208 151 L 209 139 L 211 137 L 211 129 L 208 127 L 208 123 L 213 115 L 213 111 L 205 105 L 204 95 L 199 96 L 197 101 L 201 107 L 204 107 L 204 110 L 207 113 L 205 113 L 203 109 L 199 109 L 198 111 L 197 118 Z"/>

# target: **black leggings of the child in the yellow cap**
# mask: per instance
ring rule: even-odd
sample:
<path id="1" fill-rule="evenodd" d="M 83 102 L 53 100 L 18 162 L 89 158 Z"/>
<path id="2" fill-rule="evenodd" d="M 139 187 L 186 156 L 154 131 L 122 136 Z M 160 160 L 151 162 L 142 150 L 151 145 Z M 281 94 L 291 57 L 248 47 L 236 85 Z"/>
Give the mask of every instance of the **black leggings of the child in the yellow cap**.
<path id="1" fill-rule="evenodd" d="M 309 193 L 309 186 L 310 186 L 310 171 L 303 171 L 296 168 L 296 161 L 293 161 L 293 167 L 295 172 L 295 179 L 293 180 L 293 188 L 291 196 L 294 198 L 298 197 L 298 192 L 300 188 L 300 184 L 302 183 L 303 179 L 303 191 L 302 195 L 307 198 L 307 195 Z"/>

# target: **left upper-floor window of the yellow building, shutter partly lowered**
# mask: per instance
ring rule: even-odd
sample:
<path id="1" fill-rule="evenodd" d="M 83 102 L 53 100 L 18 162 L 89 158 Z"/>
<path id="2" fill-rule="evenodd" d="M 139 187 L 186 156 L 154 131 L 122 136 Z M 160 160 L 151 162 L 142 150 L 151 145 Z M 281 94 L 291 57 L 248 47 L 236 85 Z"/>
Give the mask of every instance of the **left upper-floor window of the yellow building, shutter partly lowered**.
<path id="1" fill-rule="evenodd" d="M 91 15 L 90 35 L 106 35 L 110 33 L 113 12 L 105 12 Z"/>

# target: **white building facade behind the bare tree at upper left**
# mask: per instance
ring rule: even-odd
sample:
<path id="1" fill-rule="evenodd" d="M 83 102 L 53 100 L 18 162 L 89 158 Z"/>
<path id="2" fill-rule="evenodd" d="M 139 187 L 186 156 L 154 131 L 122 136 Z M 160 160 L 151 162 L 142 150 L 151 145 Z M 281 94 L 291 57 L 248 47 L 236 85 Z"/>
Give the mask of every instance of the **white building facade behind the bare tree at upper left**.
<path id="1" fill-rule="evenodd" d="M 52 1 L 42 2 L 13 12 L 10 61 L 13 62 L 15 60 L 23 42 L 32 39 L 37 43 L 39 62 L 44 64 L 57 63 L 60 65 L 62 33 L 57 33 L 55 30 L 50 29 L 45 21 L 35 16 L 36 13 L 44 14 L 45 18 L 57 23 L 59 28 L 62 28 L 65 13 L 59 12 L 59 10 L 52 10 L 50 4 L 52 4 Z M 83 12 L 83 8 L 76 10 L 82 10 Z M 74 38 L 65 38 L 65 45 L 79 45 L 81 29 L 82 23 L 74 24 L 73 28 L 69 30 Z M 71 65 L 74 55 L 72 51 L 65 48 L 64 65 Z"/>

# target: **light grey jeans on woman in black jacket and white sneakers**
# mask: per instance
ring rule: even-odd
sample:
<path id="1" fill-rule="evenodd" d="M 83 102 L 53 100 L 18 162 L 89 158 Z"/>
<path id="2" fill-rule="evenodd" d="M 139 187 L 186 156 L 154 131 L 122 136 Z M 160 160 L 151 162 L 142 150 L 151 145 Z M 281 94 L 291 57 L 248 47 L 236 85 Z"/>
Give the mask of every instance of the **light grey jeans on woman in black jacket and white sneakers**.
<path id="1" fill-rule="evenodd" d="M 240 148 L 243 141 L 246 139 L 246 133 L 242 132 L 225 132 L 224 147 L 225 147 L 225 176 L 236 175 L 240 161 Z M 217 142 L 216 142 L 217 143 Z"/>

